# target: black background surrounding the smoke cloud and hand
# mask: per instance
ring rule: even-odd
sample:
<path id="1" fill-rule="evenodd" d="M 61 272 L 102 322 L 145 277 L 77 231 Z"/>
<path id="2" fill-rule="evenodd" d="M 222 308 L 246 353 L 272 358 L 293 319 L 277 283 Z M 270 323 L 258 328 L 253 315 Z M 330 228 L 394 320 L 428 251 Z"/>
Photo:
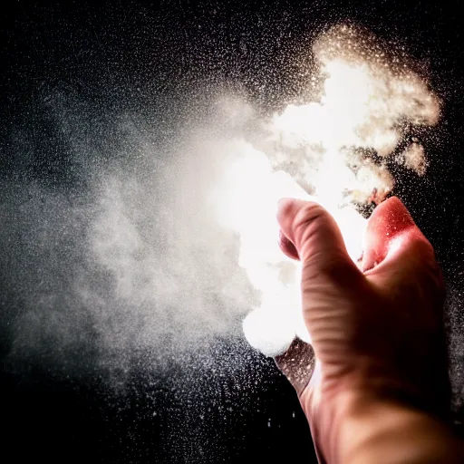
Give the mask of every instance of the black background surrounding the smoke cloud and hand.
<path id="1" fill-rule="evenodd" d="M 157 126 L 160 138 L 169 137 L 173 121 L 183 117 L 176 111 L 182 102 L 208 95 L 218 85 L 239 87 L 263 114 L 298 101 L 304 79 L 296 75 L 291 57 L 331 24 L 349 21 L 367 27 L 427 66 L 430 84 L 444 102 L 438 130 L 424 140 L 428 177 L 399 172 L 396 193 L 435 246 L 449 284 L 450 372 L 459 425 L 464 412 L 459 4 L 11 2 L 1 18 L 0 179 L 44 183 L 70 195 L 85 188 L 46 104 L 37 104 L 56 89 L 91 101 L 92 121 L 99 121 L 99 114 L 137 112 L 146 126 Z M 104 131 L 104 124 L 97 129 Z M 35 134 L 34 150 L 27 156 L 24 132 Z M 111 147 L 102 147 L 102 153 L 98 162 L 104 166 L 113 156 Z M 10 232 L 14 229 L 8 239 L 21 241 L 21 224 L 10 227 L 16 219 L 5 207 L 7 201 L 2 195 L 0 227 L 8 225 Z M 182 394 L 170 387 L 171 379 L 182 375 L 174 366 L 164 373 L 164 384 L 152 387 L 150 372 L 134 365 L 124 388 L 114 391 L 92 372 L 73 378 L 44 368 L 40 356 L 12 364 L 10 327 L 22 311 L 21 292 L 27 290 L 14 286 L 20 277 L 10 272 L 8 247 L 11 242 L 0 248 L 5 462 L 29 453 L 48 462 L 239 462 L 251 453 L 268 462 L 314 459 L 295 393 L 273 362 L 243 340 L 218 339 L 210 347 L 212 364 L 201 367 L 195 382 L 183 382 Z M 233 369 L 223 362 L 231 357 L 236 360 Z M 211 373 L 221 371 L 222 376 Z M 199 403 L 211 405 L 206 419 L 199 417 Z M 208 423 L 199 427 L 200 420 Z"/>

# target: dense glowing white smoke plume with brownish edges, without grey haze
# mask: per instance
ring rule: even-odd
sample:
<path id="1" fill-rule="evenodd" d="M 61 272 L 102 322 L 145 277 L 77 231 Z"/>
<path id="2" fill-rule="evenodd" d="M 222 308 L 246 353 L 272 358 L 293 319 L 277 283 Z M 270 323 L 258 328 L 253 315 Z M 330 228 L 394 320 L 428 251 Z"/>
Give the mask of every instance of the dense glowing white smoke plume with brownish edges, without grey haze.
<path id="1" fill-rule="evenodd" d="M 261 292 L 261 304 L 244 322 L 247 340 L 267 355 L 285 352 L 295 335 L 311 342 L 301 317 L 299 266 L 276 245 L 276 200 L 312 193 L 338 221 L 356 260 L 364 219 L 353 205 L 391 192 L 389 161 L 425 173 L 423 147 L 405 139 L 440 115 L 427 82 L 407 63 L 390 62 L 367 34 L 334 28 L 314 43 L 314 56 L 314 79 L 323 82 L 314 102 L 290 105 L 266 123 L 272 150 L 237 142 L 233 151 L 240 155 L 215 193 L 221 222 L 240 236 L 239 265 Z"/>

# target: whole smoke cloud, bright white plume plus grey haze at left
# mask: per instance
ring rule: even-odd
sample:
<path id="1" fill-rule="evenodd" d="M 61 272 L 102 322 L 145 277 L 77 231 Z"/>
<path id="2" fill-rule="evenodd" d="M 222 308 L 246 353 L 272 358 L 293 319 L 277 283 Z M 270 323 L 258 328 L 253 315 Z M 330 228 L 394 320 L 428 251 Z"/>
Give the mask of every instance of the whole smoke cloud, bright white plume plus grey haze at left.
<path id="1" fill-rule="evenodd" d="M 393 161 L 425 172 L 415 128 L 440 113 L 427 82 L 365 33 L 335 28 L 313 53 L 306 102 L 263 118 L 218 89 L 162 136 L 136 112 L 106 120 L 73 92 L 46 95 L 75 178 L 66 191 L 5 185 L 5 295 L 21 308 L 8 319 L 5 366 L 123 381 L 141 352 L 155 370 L 182 353 L 208 357 L 219 338 L 243 337 L 251 310 L 247 337 L 264 353 L 307 339 L 298 267 L 276 247 L 276 200 L 314 195 L 358 257 L 364 219 L 353 205 L 393 189 Z M 30 134 L 16 136 L 26 162 Z"/>

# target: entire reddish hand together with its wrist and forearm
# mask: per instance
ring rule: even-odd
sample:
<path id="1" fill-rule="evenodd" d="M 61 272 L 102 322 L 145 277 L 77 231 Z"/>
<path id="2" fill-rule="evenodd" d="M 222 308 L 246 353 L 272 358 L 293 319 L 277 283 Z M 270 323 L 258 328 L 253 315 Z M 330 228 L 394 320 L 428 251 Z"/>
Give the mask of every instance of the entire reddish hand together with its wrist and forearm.
<path id="1" fill-rule="evenodd" d="M 444 285 L 433 248 L 398 198 L 376 208 L 362 260 L 333 218 L 284 198 L 280 246 L 303 264 L 316 367 L 299 399 L 321 462 L 464 462 L 448 424 Z"/>

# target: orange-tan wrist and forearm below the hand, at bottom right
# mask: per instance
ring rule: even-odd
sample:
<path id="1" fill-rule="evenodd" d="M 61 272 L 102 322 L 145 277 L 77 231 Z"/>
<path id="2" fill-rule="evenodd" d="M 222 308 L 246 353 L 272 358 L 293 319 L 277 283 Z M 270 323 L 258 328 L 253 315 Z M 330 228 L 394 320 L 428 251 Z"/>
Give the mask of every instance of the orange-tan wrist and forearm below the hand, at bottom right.
<path id="1" fill-rule="evenodd" d="M 327 408 L 317 427 L 312 424 L 316 449 L 328 464 L 464 462 L 462 445 L 448 425 L 425 412 L 350 395 L 334 408 Z"/>

